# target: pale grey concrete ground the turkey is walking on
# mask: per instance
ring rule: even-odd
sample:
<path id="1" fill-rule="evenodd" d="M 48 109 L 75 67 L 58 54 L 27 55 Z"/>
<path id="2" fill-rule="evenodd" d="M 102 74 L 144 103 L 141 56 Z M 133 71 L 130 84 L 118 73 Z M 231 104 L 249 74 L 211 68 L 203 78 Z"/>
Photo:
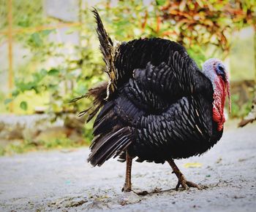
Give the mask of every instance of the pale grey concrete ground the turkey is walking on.
<path id="1" fill-rule="evenodd" d="M 135 162 L 133 188 L 151 193 L 124 194 L 124 163 L 91 168 L 88 155 L 83 148 L 0 157 L 0 211 L 256 211 L 255 124 L 229 127 L 203 156 L 176 161 L 203 190 L 177 192 L 167 163 Z"/>

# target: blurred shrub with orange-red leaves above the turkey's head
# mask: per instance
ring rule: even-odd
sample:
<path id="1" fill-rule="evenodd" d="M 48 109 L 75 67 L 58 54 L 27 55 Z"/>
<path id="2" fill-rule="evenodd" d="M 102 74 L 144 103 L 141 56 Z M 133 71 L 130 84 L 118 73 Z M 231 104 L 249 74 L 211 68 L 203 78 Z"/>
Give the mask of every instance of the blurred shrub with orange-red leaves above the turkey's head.
<path id="1" fill-rule="evenodd" d="M 230 51 L 230 36 L 245 25 L 256 25 L 253 1 L 166 1 L 159 7 L 161 20 L 170 23 L 168 34 L 185 47 L 216 45 L 225 55 Z"/>

